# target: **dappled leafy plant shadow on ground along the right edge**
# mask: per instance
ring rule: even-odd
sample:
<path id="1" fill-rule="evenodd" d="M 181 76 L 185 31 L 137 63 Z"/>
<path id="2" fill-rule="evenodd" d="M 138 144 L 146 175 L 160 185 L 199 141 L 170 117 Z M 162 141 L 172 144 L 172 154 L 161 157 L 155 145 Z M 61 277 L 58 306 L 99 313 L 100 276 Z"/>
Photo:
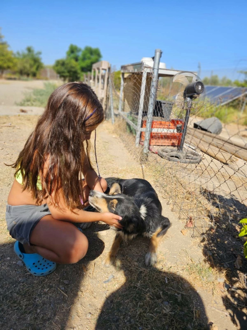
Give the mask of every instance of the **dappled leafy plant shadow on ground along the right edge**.
<path id="1" fill-rule="evenodd" d="M 203 252 L 212 267 L 227 271 L 222 300 L 238 329 L 246 329 L 247 260 L 243 256 L 245 239 L 238 237 L 238 222 L 247 217 L 247 207 L 234 195 L 227 198 L 207 192 L 206 196 L 217 212 L 209 215 L 212 226 L 203 233 Z"/>

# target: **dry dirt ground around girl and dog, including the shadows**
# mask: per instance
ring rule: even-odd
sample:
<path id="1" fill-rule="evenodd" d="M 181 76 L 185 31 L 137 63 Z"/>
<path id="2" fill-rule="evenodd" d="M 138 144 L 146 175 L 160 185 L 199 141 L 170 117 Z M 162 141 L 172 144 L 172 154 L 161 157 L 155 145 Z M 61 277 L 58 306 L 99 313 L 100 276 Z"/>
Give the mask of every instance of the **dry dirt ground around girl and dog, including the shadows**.
<path id="1" fill-rule="evenodd" d="M 0 83 L 0 95 L 2 86 L 8 95 L 2 102 L 11 114 L 12 84 Z M 19 98 L 21 94 L 15 95 Z M 171 212 L 161 194 L 163 215 L 169 217 L 172 226 L 159 245 L 155 267 L 144 264 L 149 241 L 143 238 L 123 245 L 114 266 L 101 266 L 114 231 L 99 223 L 84 231 L 89 251 L 77 264 L 58 265 L 54 273 L 42 278 L 33 277 L 18 265 L 14 240 L 5 222 L 14 169 L 4 163 L 14 162 L 38 116 L 6 116 L 1 109 L 0 114 L 1 329 L 209 329 L 210 322 L 210 329 L 236 329 L 231 310 L 224 305 L 228 294 L 225 273 L 204 263 L 198 242 L 189 233 L 181 233 L 184 223 Z M 139 162 L 109 122 L 97 129 L 96 148 L 101 176 L 143 177 Z M 144 169 L 144 175 L 156 188 L 152 173 Z"/>

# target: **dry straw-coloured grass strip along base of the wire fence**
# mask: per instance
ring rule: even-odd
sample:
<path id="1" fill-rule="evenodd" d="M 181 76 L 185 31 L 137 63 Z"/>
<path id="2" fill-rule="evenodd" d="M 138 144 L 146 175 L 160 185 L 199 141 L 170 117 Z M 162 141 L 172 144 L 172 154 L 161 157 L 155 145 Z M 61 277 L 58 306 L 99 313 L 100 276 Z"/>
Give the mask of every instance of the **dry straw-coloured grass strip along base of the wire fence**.
<path id="1" fill-rule="evenodd" d="M 120 134 L 133 156 L 142 164 L 145 179 L 151 178 L 155 182 L 161 196 L 168 200 L 172 211 L 178 213 L 178 218 L 184 224 L 188 219 L 192 220 L 190 233 L 192 237 L 197 238 L 195 243 L 203 248 L 206 261 L 210 263 L 211 268 L 189 262 L 181 269 L 181 274 L 186 275 L 190 282 L 219 294 L 221 292 L 215 279 L 219 276 L 224 278 L 227 274 L 230 285 L 239 286 L 242 295 L 238 294 L 239 300 L 236 303 L 233 291 L 227 299 L 224 299 L 224 304 L 230 309 L 234 305 L 236 310 L 246 313 L 247 288 L 244 274 L 247 273 L 247 262 L 242 257 L 241 268 L 237 270 L 234 266 L 237 256 L 243 256 L 244 239 L 238 238 L 237 223 L 247 215 L 247 207 L 242 202 L 246 198 L 246 187 L 239 192 L 238 187 L 245 186 L 246 177 L 238 173 L 229 174 L 225 167 L 218 169 L 212 164 L 206 166 L 203 163 L 186 165 L 168 162 L 153 153 L 149 153 L 147 161 L 144 162 L 141 148 L 136 149 L 134 137 L 126 133 L 125 122 L 119 120 L 116 125 L 118 127 L 116 132 Z M 208 181 L 214 179 L 217 192 L 200 185 L 200 178 L 205 175 L 209 176 Z M 226 185 L 221 187 L 223 183 Z M 235 189 L 236 194 L 228 193 L 225 189 L 229 189 L 229 192 Z M 202 275 L 205 271 L 206 275 Z M 208 278 L 213 280 L 207 281 Z"/>

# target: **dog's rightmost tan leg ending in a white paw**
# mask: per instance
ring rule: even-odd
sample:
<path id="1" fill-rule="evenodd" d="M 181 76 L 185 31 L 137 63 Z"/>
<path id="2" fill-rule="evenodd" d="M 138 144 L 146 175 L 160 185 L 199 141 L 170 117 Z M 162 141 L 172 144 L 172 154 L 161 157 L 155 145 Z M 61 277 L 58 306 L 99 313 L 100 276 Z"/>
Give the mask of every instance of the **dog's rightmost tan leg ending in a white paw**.
<path id="1" fill-rule="evenodd" d="M 157 249 L 159 241 L 162 239 L 162 237 L 167 232 L 167 229 L 170 227 L 170 221 L 169 223 L 164 224 L 161 228 L 158 228 L 156 232 L 153 234 L 153 236 L 150 239 L 149 243 L 149 249 L 148 253 L 145 256 L 145 264 L 146 266 L 151 266 L 157 262 Z"/>

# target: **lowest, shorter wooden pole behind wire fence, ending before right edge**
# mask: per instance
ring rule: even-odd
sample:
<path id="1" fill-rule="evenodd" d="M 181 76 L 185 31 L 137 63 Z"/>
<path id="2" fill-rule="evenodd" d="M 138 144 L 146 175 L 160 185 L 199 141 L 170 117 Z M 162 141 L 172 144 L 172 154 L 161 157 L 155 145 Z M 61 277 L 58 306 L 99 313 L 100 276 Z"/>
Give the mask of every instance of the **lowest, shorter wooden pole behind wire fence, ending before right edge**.
<path id="1" fill-rule="evenodd" d="M 192 143 L 194 146 L 199 148 L 201 151 L 206 153 L 207 155 L 217 159 L 221 163 L 227 164 L 227 163 L 233 163 L 238 160 L 238 158 L 234 157 L 232 154 L 219 150 L 214 146 L 211 146 L 207 144 L 206 142 L 203 142 L 202 140 L 199 140 L 191 135 L 187 136 L 186 142 Z"/>

